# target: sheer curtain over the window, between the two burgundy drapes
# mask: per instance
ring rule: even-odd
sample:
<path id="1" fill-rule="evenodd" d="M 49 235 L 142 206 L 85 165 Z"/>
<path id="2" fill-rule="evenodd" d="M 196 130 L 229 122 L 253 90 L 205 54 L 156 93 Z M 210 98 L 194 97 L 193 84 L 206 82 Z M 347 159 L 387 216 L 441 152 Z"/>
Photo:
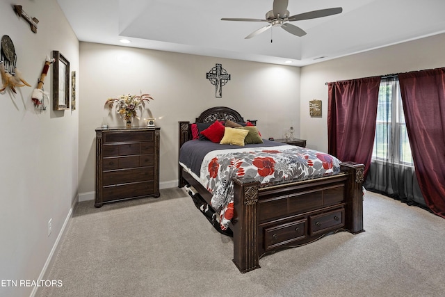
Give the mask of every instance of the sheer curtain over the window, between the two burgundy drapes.
<path id="1" fill-rule="evenodd" d="M 408 205 L 428 209 L 415 168 L 410 163 L 411 150 L 405 147 L 409 141 L 404 129 L 398 77 L 382 78 L 378 100 L 373 159 L 363 186 Z"/>

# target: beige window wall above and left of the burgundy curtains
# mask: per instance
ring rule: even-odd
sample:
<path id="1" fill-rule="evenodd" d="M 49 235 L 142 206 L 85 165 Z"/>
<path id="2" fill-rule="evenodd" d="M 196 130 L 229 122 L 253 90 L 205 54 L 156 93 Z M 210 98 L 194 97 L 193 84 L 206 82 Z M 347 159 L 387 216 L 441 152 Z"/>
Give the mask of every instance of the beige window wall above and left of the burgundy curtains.
<path id="1" fill-rule="evenodd" d="M 445 67 L 444 48 L 445 34 L 440 34 L 302 67 L 300 134 L 307 146 L 327 151 L 325 82 Z M 322 100 L 323 118 L 309 116 L 312 99 Z"/>

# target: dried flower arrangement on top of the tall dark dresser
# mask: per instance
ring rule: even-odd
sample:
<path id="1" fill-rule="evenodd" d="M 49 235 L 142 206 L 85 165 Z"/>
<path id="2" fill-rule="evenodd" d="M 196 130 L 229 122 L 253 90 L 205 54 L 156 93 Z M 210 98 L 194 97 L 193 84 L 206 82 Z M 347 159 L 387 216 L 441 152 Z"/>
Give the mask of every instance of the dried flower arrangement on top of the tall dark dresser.
<path id="1" fill-rule="evenodd" d="M 154 100 L 149 94 L 141 95 L 122 95 L 118 98 L 108 98 L 105 105 L 108 105 L 109 109 L 113 109 L 116 105 L 116 112 L 127 122 L 131 121 L 132 118 L 137 118 L 137 111 L 145 104 L 149 103 L 149 100 Z"/>

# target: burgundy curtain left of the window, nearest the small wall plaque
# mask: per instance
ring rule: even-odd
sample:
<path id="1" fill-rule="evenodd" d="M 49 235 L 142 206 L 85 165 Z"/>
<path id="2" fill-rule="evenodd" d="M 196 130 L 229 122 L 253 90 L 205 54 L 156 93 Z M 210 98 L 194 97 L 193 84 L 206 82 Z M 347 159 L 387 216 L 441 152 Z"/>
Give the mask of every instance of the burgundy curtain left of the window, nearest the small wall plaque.
<path id="1" fill-rule="evenodd" d="M 369 170 L 375 137 L 380 77 L 328 84 L 327 149 L 341 161 Z"/>

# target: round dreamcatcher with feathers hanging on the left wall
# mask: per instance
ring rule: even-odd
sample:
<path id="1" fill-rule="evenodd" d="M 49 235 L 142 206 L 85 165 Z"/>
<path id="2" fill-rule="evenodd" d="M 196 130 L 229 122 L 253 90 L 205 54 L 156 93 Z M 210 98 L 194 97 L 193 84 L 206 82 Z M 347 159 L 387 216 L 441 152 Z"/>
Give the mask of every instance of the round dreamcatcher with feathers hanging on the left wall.
<path id="1" fill-rule="evenodd" d="M 0 74 L 1 83 L 0 92 L 4 92 L 6 88 L 10 88 L 14 93 L 15 88 L 23 86 L 31 86 L 23 78 L 19 70 L 17 70 L 17 55 L 13 40 L 8 35 L 3 35 L 1 38 L 1 59 L 0 59 Z"/>

